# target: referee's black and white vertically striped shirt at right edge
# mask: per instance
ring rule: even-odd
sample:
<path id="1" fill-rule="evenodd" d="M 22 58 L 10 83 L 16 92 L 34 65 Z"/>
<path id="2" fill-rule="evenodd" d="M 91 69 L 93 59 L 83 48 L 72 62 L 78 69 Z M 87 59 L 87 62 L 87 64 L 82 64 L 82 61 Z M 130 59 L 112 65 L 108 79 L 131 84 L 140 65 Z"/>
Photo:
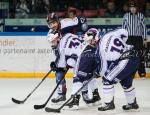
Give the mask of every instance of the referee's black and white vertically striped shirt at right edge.
<path id="1" fill-rule="evenodd" d="M 142 36 L 146 39 L 147 31 L 144 15 L 142 13 L 126 13 L 123 17 L 122 27 L 128 31 L 129 36 Z"/>

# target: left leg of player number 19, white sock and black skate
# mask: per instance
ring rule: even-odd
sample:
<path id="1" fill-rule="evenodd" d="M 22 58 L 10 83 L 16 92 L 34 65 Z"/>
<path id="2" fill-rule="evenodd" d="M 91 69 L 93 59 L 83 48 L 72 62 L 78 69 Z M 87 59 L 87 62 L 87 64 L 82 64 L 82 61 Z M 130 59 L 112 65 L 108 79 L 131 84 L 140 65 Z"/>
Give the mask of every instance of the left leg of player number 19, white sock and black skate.
<path id="1" fill-rule="evenodd" d="M 104 105 L 98 108 L 99 111 L 107 111 L 115 109 L 114 104 L 114 84 L 119 82 L 123 75 L 124 67 L 128 60 L 123 60 L 121 63 L 111 62 L 108 70 L 105 72 L 103 77 L 103 94 L 104 94 Z"/>

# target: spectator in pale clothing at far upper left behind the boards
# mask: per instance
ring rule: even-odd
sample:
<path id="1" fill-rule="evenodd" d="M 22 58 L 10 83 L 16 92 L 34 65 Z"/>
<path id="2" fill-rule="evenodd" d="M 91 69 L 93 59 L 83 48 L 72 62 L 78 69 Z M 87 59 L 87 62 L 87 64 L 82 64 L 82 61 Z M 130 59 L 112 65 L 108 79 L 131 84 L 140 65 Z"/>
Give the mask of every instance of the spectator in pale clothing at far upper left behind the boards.
<path id="1" fill-rule="evenodd" d="M 29 13 L 30 10 L 28 8 L 26 0 L 20 0 L 16 4 L 16 18 L 28 18 Z"/>

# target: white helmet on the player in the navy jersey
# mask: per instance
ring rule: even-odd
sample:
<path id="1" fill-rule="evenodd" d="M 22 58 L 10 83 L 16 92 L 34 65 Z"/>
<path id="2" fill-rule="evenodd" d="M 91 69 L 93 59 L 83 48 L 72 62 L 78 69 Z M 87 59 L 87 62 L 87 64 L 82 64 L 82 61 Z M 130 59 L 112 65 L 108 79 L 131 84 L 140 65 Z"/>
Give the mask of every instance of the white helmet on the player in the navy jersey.
<path id="1" fill-rule="evenodd" d="M 96 28 L 90 28 L 84 35 L 83 40 L 86 42 L 91 41 L 92 39 L 96 40 L 96 42 L 100 39 L 99 31 Z"/>

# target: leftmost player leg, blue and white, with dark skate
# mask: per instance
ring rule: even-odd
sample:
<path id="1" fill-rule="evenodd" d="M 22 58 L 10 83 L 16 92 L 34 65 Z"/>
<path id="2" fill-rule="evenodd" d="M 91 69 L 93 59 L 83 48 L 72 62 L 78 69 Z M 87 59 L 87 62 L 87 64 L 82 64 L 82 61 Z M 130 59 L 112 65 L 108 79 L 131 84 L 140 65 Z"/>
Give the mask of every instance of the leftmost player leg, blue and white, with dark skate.
<path id="1" fill-rule="evenodd" d="M 56 83 L 58 83 L 66 74 L 66 70 L 60 68 L 56 71 Z M 53 103 L 58 103 L 66 100 L 66 80 L 63 79 L 60 85 L 57 88 L 57 96 L 53 98 L 51 101 Z"/>

